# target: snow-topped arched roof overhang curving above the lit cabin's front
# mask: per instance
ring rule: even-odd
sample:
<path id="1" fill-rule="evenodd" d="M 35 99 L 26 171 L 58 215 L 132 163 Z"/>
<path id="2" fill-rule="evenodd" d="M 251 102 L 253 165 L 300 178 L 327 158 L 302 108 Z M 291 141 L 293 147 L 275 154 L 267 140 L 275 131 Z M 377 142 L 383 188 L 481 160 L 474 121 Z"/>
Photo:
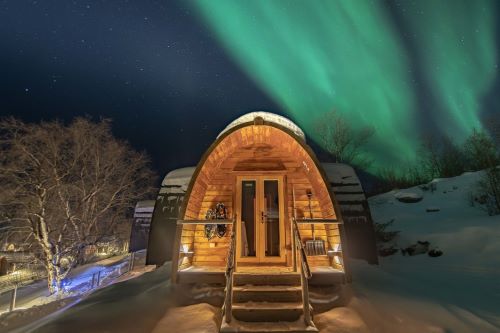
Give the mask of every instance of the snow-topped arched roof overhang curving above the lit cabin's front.
<path id="1" fill-rule="evenodd" d="M 275 116 L 267 112 L 266 114 L 268 119 L 269 115 Z M 221 172 L 224 161 L 235 160 L 239 154 L 245 154 L 245 151 L 249 150 L 266 156 L 270 152 L 269 147 L 274 147 L 280 154 L 284 154 L 282 156 L 294 160 L 293 167 L 302 170 L 316 189 L 324 216 L 337 217 L 338 210 L 334 208 L 334 197 L 328 180 L 314 152 L 305 143 L 303 132 L 286 118 L 278 116 L 288 122 L 287 126 L 284 126 L 275 121 L 277 118 L 273 117 L 273 120 L 268 121 L 261 115 L 259 112 L 250 113 L 243 118 L 246 122 L 240 119 L 231 123 L 232 125 L 230 124 L 208 148 L 191 178 L 181 211 L 183 218 L 197 218 L 199 205 L 208 184 Z M 227 165 L 223 169 L 227 169 Z"/>

